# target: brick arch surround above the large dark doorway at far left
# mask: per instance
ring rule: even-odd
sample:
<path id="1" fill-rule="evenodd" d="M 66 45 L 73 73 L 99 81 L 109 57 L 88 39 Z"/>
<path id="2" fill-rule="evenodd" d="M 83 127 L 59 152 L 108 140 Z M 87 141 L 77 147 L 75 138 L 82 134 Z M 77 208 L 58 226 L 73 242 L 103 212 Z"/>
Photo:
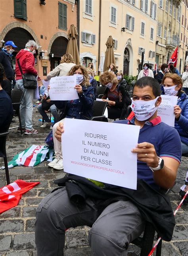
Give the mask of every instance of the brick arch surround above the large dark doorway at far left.
<path id="1" fill-rule="evenodd" d="M 0 40 L 3 40 L 5 38 L 8 31 L 10 31 L 11 29 L 16 28 L 16 27 L 21 27 L 21 28 L 27 30 L 32 35 L 32 37 L 34 38 L 37 45 L 40 45 L 40 43 L 38 41 L 38 38 L 37 38 L 35 32 L 33 31 L 33 29 L 31 29 L 31 27 L 29 27 L 25 23 L 21 23 L 19 21 L 11 22 L 8 25 L 6 25 L 0 33 Z M 0 47 L 2 47 L 2 43 L 0 43 Z M 38 51 L 41 51 L 41 48 L 39 48 Z"/>

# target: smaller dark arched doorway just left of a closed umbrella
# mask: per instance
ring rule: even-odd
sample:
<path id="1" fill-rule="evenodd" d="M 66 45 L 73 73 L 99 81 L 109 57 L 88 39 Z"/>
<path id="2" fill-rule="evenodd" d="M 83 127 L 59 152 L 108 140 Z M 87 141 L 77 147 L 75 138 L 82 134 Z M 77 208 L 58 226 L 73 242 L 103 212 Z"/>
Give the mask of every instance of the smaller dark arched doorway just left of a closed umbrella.
<path id="1" fill-rule="evenodd" d="M 54 54 L 54 57 L 50 59 L 50 70 L 56 68 L 61 61 L 61 57 L 67 51 L 68 39 L 65 37 L 57 37 L 52 43 L 50 53 Z"/>

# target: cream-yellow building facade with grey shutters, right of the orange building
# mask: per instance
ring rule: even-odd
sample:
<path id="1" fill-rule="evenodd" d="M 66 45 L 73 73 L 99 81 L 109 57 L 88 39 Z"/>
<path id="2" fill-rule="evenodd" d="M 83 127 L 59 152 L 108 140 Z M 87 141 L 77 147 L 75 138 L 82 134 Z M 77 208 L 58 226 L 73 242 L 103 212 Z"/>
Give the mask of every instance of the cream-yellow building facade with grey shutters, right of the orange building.
<path id="1" fill-rule="evenodd" d="M 115 41 L 118 70 L 136 76 L 144 63 L 155 66 L 157 0 L 82 0 L 80 4 L 80 57 L 82 64 L 94 63 L 98 70 L 106 41 Z"/>

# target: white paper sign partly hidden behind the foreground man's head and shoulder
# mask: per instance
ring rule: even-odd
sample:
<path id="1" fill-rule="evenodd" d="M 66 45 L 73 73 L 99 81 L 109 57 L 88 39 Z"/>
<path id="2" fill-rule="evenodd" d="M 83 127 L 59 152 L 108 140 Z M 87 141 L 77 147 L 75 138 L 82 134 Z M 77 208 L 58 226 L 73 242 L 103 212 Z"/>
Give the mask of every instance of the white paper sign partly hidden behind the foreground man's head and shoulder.
<path id="1" fill-rule="evenodd" d="M 157 109 L 157 115 L 161 117 L 161 121 L 174 127 L 175 123 L 175 114 L 174 106 L 177 105 L 178 97 L 161 95 L 162 102 Z"/>

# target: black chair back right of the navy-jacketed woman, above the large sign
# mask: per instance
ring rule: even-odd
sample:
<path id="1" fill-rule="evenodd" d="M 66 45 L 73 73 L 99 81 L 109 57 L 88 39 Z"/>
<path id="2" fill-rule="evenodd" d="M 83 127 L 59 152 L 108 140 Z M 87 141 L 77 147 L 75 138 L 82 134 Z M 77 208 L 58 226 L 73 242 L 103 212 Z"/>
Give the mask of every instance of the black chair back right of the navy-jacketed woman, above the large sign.
<path id="1" fill-rule="evenodd" d="M 92 111 L 93 116 L 90 117 L 90 120 L 102 121 L 105 118 L 104 111 L 107 107 L 107 102 L 94 100 Z"/>

